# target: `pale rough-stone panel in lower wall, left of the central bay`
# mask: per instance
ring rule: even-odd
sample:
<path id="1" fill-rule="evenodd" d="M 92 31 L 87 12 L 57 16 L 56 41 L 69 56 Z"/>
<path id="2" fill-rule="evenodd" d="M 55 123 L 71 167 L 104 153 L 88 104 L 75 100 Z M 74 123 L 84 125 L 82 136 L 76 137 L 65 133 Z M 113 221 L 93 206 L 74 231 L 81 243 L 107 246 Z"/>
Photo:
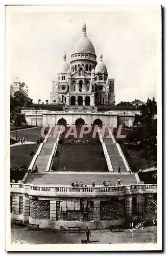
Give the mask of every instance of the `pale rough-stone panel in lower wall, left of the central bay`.
<path id="1" fill-rule="evenodd" d="M 37 220 L 50 220 L 50 201 L 30 199 L 30 217 Z"/>

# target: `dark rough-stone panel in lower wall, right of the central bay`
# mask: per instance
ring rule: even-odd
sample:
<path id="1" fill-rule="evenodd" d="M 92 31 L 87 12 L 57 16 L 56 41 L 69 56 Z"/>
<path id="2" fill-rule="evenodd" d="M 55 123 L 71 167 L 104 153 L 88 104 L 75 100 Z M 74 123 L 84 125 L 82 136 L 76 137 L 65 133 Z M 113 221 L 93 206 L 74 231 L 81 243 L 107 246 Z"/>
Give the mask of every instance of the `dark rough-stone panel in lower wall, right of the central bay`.
<path id="1" fill-rule="evenodd" d="M 100 219 L 102 221 L 120 220 L 123 218 L 125 218 L 125 199 L 100 202 Z"/>

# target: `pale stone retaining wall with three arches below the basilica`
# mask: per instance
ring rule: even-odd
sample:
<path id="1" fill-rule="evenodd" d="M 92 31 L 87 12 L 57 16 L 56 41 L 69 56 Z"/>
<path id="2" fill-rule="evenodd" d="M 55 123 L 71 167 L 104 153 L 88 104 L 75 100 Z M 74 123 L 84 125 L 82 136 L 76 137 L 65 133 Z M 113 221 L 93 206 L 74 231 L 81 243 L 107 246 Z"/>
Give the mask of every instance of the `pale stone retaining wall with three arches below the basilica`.
<path id="1" fill-rule="evenodd" d="M 132 126 L 135 118 L 135 114 L 140 114 L 139 111 L 110 111 L 110 112 L 79 112 L 79 111 L 66 111 L 66 112 L 55 112 L 55 111 L 35 111 L 21 110 L 22 114 L 26 115 L 27 125 L 55 125 L 58 124 L 60 119 L 65 119 L 67 125 L 74 125 L 77 119 L 82 118 L 86 125 L 92 125 L 96 120 L 100 119 L 102 124 L 105 126 L 118 127 L 120 124 Z M 125 113 L 125 114 L 124 114 Z"/>

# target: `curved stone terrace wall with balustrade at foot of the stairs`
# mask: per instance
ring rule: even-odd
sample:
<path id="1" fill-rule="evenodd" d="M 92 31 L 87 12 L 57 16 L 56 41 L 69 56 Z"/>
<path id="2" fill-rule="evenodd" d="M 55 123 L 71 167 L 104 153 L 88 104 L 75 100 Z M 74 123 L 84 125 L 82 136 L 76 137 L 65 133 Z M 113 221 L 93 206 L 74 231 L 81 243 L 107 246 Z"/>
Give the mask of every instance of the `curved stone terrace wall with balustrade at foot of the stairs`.
<path id="1" fill-rule="evenodd" d="M 106 229 L 134 220 L 155 220 L 156 185 L 51 187 L 11 184 L 11 219 L 39 228 Z"/>

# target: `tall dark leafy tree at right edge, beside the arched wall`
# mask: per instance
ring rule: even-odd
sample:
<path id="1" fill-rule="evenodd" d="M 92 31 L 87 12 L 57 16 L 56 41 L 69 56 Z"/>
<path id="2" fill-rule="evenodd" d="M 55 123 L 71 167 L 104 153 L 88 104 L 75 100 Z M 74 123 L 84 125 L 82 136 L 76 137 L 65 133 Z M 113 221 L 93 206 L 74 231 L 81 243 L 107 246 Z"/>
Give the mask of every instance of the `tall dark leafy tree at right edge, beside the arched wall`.
<path id="1" fill-rule="evenodd" d="M 155 98 L 147 100 L 146 104 L 139 106 L 140 115 L 135 115 L 133 129 L 135 134 L 130 134 L 127 139 L 142 148 L 144 159 L 157 155 L 157 102 Z"/>

